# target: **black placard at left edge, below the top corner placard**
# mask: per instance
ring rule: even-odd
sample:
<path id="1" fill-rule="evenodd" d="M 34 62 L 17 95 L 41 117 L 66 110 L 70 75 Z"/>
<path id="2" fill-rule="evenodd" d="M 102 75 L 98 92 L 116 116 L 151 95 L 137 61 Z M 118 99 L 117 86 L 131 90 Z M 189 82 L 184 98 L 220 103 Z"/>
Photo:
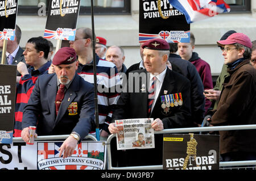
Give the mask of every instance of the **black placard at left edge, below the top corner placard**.
<path id="1" fill-rule="evenodd" d="M 16 65 L 0 65 L 0 144 L 13 142 Z"/>

